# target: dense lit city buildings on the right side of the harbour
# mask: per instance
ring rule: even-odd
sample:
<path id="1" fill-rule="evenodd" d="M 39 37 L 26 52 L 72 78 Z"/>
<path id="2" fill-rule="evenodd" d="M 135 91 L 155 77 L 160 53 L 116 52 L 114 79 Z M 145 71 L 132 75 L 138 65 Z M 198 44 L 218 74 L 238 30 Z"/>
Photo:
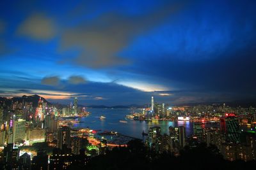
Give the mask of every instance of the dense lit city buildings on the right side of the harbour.
<path id="1" fill-rule="evenodd" d="M 150 109 L 143 109 L 142 114 L 138 114 L 140 117 L 147 117 L 150 114 L 151 117 L 155 117 L 154 120 L 163 120 L 161 117 L 170 118 L 172 115 L 174 120 L 193 122 L 193 134 L 189 136 L 186 136 L 184 126 L 170 126 L 169 134 L 162 134 L 160 127 L 150 127 L 146 145 L 154 152 L 167 151 L 179 155 L 179 151 L 186 145 L 195 147 L 200 143 L 206 143 L 207 146 L 217 146 L 227 160 L 256 159 L 255 108 L 230 108 L 223 104 L 170 108 L 168 113 L 168 109 L 164 109 L 164 104 L 154 104 Z M 164 115 L 165 113 L 167 114 Z"/>

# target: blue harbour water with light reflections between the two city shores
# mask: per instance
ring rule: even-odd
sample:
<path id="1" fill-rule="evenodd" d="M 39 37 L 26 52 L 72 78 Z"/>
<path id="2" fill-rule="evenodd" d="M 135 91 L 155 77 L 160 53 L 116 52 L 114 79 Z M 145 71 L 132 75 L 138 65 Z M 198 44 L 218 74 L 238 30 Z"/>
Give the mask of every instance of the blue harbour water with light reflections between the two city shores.
<path id="1" fill-rule="evenodd" d="M 101 131 L 117 131 L 127 136 L 142 139 L 141 133 L 148 132 L 150 127 L 161 127 L 162 134 L 169 133 L 170 126 L 184 125 L 186 127 L 186 135 L 189 136 L 193 133 L 193 123 L 191 122 L 170 122 L 170 121 L 139 121 L 139 120 L 127 120 L 127 124 L 119 122 L 124 120 L 125 115 L 128 115 L 131 110 L 129 109 L 88 109 L 90 115 L 88 117 L 81 118 L 80 124 L 75 124 L 74 127 L 90 127 L 90 129 Z M 100 116 L 106 117 L 103 121 L 100 120 Z"/>

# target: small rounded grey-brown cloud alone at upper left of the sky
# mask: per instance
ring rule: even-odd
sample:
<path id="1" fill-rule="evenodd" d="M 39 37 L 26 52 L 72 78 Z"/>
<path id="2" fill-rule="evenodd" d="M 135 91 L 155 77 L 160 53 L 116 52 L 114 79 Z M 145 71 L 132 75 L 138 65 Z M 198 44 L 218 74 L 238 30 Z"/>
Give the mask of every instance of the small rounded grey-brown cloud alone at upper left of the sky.
<path id="1" fill-rule="evenodd" d="M 56 34 L 56 26 L 50 17 L 35 13 L 26 18 L 17 33 L 37 40 L 49 40 Z"/>

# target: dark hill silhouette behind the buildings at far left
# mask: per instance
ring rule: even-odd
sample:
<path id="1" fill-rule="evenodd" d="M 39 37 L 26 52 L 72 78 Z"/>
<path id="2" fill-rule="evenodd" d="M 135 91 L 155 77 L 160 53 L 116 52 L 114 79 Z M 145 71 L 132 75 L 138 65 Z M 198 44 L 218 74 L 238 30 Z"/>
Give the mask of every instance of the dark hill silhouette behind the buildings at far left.
<path id="1" fill-rule="evenodd" d="M 22 96 L 22 97 L 13 97 L 11 99 L 8 99 L 6 97 L 0 97 L 0 102 L 1 103 L 5 103 L 7 106 L 10 106 L 13 103 L 15 102 L 19 102 L 19 103 L 22 103 L 23 101 L 24 102 L 27 102 L 27 103 L 33 103 L 33 107 L 36 107 L 37 104 L 38 104 L 38 101 L 40 99 L 40 96 L 38 96 L 37 94 L 35 95 L 31 95 L 31 96 Z M 41 97 L 42 101 L 44 101 L 44 103 L 49 103 L 44 97 Z"/>

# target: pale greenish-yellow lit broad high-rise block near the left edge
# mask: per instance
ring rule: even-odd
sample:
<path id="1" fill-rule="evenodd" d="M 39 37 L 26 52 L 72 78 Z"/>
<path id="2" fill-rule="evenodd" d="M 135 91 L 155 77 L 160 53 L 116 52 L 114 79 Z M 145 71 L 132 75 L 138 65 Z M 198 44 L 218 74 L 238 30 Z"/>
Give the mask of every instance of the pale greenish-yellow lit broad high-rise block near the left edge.
<path id="1" fill-rule="evenodd" d="M 12 143 L 20 143 L 25 139 L 26 120 L 18 118 L 13 121 Z"/>

